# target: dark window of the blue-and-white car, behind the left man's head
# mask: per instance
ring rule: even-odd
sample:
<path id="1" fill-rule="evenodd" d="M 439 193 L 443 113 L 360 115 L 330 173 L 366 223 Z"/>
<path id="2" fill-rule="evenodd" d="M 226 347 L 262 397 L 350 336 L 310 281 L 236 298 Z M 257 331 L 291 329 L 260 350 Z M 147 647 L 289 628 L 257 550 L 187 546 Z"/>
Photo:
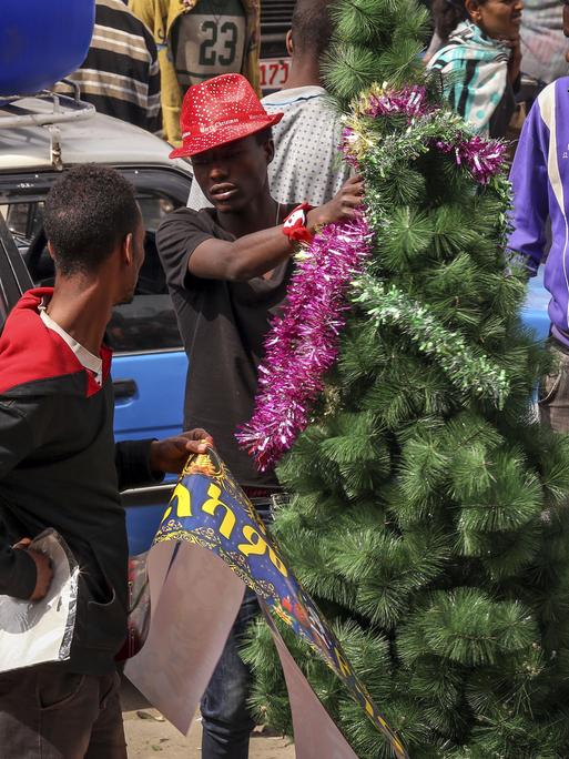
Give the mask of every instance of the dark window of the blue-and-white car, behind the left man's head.
<path id="1" fill-rule="evenodd" d="M 145 260 L 132 303 L 116 306 L 106 341 L 118 353 L 180 350 L 182 342 L 160 262 L 155 232 L 162 219 L 185 205 L 190 178 L 167 169 L 122 169 L 136 190 L 146 230 Z M 0 213 L 35 285 L 53 284 L 53 262 L 43 231 L 43 199 L 58 174 L 0 179 Z"/>

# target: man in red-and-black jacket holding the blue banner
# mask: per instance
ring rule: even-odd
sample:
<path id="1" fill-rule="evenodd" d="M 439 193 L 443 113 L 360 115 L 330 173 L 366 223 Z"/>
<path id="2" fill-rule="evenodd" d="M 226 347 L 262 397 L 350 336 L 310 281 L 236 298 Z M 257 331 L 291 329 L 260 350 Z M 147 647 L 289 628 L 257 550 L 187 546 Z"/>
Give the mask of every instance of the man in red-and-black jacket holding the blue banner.
<path id="1" fill-rule="evenodd" d="M 126 635 L 128 543 L 119 490 L 180 472 L 203 429 L 114 445 L 113 305 L 132 300 L 144 229 L 132 186 L 78 166 L 51 190 L 45 231 L 54 289 L 23 295 L 0 337 L 0 594 L 42 598 L 48 559 L 30 539 L 54 528 L 80 566 L 71 656 L 0 675 L 2 756 L 125 759 L 115 656 Z"/>

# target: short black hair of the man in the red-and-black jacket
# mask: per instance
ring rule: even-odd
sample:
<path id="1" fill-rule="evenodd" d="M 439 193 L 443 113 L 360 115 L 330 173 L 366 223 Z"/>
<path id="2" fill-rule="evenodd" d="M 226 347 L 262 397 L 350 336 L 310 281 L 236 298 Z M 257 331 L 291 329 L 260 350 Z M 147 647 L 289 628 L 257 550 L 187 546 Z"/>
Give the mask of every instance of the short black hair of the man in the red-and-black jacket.
<path id="1" fill-rule="evenodd" d="M 55 269 L 67 276 L 98 271 L 140 222 L 134 188 L 109 166 L 73 166 L 45 199 L 45 234 Z"/>

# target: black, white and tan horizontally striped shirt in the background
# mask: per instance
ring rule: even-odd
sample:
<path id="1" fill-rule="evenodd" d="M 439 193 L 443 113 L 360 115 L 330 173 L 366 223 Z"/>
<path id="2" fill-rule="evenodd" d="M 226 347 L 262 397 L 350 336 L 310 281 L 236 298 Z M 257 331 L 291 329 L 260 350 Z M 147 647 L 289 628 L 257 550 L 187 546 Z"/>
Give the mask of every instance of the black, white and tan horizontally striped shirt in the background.
<path id="1" fill-rule="evenodd" d="M 150 132 L 161 130 L 160 69 L 154 39 L 121 0 L 96 0 L 91 47 L 67 79 L 100 113 Z M 59 92 L 69 92 L 62 84 Z"/>

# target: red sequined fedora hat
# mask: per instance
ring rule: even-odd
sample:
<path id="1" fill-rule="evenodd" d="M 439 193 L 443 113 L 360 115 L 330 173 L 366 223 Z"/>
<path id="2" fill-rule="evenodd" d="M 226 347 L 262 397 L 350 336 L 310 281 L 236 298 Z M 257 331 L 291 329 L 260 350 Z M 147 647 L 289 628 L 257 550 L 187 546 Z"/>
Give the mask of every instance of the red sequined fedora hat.
<path id="1" fill-rule="evenodd" d="M 182 146 L 170 158 L 196 155 L 204 150 L 277 124 L 282 113 L 270 115 L 241 74 L 221 74 L 191 87 L 184 97 L 180 126 Z"/>

